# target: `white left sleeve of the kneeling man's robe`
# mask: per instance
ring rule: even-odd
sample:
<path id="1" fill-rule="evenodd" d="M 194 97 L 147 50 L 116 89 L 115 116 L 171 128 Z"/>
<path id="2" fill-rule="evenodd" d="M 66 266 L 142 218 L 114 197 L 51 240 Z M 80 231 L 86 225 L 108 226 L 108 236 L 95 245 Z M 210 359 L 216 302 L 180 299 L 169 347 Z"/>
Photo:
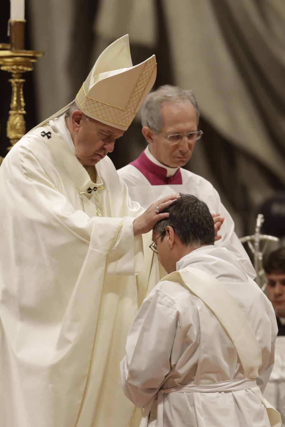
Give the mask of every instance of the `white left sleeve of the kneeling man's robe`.
<path id="1" fill-rule="evenodd" d="M 156 395 L 169 373 L 180 329 L 178 305 L 160 291 L 151 292 L 129 330 L 126 356 L 120 363 L 124 393 L 137 407 Z"/>

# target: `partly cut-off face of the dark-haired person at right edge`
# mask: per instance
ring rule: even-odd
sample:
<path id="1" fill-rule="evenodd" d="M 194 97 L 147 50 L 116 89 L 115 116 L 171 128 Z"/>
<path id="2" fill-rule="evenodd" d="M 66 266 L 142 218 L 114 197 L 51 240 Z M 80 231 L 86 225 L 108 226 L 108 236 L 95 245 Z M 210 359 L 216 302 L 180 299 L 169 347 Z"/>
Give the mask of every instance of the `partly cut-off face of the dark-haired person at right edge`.
<path id="1" fill-rule="evenodd" d="M 277 317 L 285 317 L 285 274 L 271 272 L 267 274 L 267 295 Z"/>

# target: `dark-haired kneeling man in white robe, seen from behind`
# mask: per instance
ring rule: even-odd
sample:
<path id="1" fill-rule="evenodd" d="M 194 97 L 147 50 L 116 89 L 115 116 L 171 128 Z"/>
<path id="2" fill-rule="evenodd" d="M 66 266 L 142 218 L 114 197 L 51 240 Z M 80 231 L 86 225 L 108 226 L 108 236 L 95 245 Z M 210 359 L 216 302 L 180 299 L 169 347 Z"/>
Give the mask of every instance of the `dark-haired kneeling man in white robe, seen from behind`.
<path id="1" fill-rule="evenodd" d="M 272 305 L 214 246 L 204 202 L 182 194 L 164 211 L 151 247 L 168 275 L 141 305 L 121 362 L 126 396 L 144 407 L 141 426 L 281 425 L 261 394 L 274 361 Z"/>

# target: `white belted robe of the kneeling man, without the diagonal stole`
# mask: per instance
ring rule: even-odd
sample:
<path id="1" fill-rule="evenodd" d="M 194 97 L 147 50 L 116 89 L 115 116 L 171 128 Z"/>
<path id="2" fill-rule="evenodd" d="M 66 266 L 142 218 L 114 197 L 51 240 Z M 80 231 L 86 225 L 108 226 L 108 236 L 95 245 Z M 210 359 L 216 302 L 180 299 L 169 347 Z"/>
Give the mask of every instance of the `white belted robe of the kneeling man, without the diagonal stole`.
<path id="1" fill-rule="evenodd" d="M 196 249 L 176 265 L 177 270 L 191 267 L 220 281 L 244 313 L 261 348 L 256 382 L 263 391 L 273 367 L 277 334 L 272 304 L 225 248 Z M 162 279 L 129 330 L 121 377 L 129 399 L 147 407 L 159 389 L 242 380 L 244 371 L 235 346 L 206 304 L 181 284 Z M 157 400 L 150 412 L 152 427 L 158 425 L 156 405 Z M 163 427 L 269 425 L 264 405 L 250 389 L 164 395 Z"/>

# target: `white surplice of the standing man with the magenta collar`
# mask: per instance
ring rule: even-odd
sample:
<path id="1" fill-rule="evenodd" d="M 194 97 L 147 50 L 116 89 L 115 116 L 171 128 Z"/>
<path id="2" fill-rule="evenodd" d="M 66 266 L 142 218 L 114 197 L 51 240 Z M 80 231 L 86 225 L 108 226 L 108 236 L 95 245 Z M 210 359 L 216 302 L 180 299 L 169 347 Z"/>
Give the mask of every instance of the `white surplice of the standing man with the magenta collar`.
<path id="1" fill-rule="evenodd" d="M 154 164 L 165 168 L 168 177 L 174 175 L 177 171 L 178 168 L 168 168 L 157 161 L 153 155 L 151 155 L 148 146 L 144 150 L 144 153 Z M 232 252 L 233 257 L 235 257 L 235 260 L 244 272 L 251 278 L 256 277 L 256 272 L 250 262 L 247 252 L 235 234 L 235 224 L 232 217 L 220 201 L 217 190 L 215 190 L 209 181 L 183 168 L 180 168 L 182 184 L 151 185 L 150 181 L 147 180 L 143 173 L 132 164 L 122 167 L 117 172 L 120 178 L 126 182 L 130 198 L 138 202 L 144 208 L 148 208 L 151 203 L 172 193 L 193 194 L 198 197 L 198 199 L 203 200 L 203 202 L 208 205 L 211 213 L 220 213 L 220 216 L 225 218 L 219 232 L 222 238 L 215 242 L 215 246 L 225 247 Z"/>

